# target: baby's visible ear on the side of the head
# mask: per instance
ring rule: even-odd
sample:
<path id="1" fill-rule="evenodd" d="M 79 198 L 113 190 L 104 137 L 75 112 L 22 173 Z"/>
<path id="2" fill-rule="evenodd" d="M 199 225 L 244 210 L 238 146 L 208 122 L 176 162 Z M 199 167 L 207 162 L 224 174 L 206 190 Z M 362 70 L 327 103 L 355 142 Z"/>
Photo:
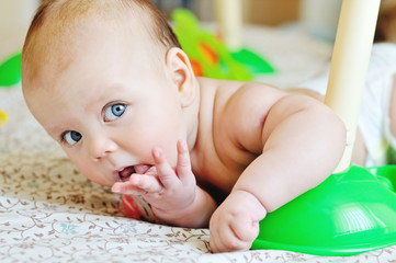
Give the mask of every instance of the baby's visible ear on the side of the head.
<path id="1" fill-rule="evenodd" d="M 167 53 L 166 65 L 178 87 L 181 105 L 189 106 L 195 98 L 195 76 L 189 57 L 182 49 L 172 47 Z"/>

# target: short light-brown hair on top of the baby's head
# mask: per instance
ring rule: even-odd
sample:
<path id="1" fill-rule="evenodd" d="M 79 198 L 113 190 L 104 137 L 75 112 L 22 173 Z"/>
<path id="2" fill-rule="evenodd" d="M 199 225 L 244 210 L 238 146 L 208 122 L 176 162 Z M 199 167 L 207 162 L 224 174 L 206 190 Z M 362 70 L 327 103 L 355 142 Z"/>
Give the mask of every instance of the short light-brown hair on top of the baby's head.
<path id="1" fill-rule="evenodd" d="M 30 69 L 35 59 L 42 59 L 35 56 L 36 48 L 45 56 L 52 56 L 46 53 L 45 46 L 37 47 L 37 37 L 52 38 L 60 41 L 78 25 L 83 18 L 128 18 L 128 15 L 138 14 L 142 18 L 142 25 L 146 27 L 149 37 L 154 39 L 165 50 L 171 47 L 179 47 L 180 43 L 174 35 L 166 16 L 149 0 L 44 0 L 38 7 L 31 26 L 27 31 L 25 43 L 22 50 L 22 75 L 26 78 L 34 78 L 35 72 L 39 69 Z M 73 24 L 75 23 L 75 24 Z M 49 28 L 44 32 L 43 28 Z M 22 78 L 23 79 L 23 78 Z"/>

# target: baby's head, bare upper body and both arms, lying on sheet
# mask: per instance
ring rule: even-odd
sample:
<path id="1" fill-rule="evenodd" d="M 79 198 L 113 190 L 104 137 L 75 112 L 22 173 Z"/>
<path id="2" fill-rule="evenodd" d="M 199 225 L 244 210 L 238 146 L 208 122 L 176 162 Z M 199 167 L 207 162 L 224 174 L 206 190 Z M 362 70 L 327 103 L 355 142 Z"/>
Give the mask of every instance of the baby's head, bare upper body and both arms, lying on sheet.
<path id="1" fill-rule="evenodd" d="M 83 175 L 163 224 L 248 250 L 258 222 L 323 182 L 346 129 L 312 91 L 195 78 L 146 0 L 46 0 L 22 55 L 26 103 Z"/>

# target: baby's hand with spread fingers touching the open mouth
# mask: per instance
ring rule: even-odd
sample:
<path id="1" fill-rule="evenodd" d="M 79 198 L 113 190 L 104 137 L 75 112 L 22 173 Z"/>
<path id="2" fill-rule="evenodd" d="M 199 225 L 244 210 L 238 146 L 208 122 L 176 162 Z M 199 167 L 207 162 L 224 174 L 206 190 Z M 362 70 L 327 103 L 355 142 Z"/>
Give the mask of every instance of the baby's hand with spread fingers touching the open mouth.
<path id="1" fill-rule="evenodd" d="M 178 163 L 171 168 L 159 148 L 152 150 L 155 167 L 145 174 L 132 174 L 128 182 L 115 183 L 114 192 L 142 197 L 151 205 L 157 218 L 172 222 L 195 198 L 195 176 L 191 171 L 185 141 L 178 141 Z"/>

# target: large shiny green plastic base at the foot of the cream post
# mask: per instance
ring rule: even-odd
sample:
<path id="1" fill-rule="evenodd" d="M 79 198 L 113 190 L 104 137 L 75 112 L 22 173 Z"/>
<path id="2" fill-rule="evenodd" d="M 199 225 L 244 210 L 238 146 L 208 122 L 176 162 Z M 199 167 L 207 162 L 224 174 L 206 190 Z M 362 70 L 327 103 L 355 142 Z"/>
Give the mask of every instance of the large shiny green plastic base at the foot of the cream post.
<path id="1" fill-rule="evenodd" d="M 396 165 L 331 174 L 267 215 L 251 249 L 353 255 L 396 244 Z"/>

